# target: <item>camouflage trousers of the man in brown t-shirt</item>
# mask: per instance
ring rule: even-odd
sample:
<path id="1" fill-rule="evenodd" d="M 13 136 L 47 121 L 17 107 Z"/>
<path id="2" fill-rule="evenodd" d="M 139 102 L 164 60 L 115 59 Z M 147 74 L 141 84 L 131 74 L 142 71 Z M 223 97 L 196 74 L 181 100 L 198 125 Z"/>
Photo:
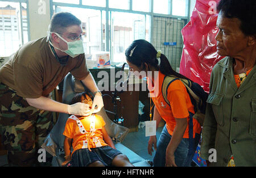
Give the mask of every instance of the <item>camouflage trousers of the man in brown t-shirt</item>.
<path id="1" fill-rule="evenodd" d="M 10 165 L 39 165 L 38 149 L 52 127 L 51 112 L 30 106 L 0 82 L 0 134 Z M 46 161 L 51 162 L 49 158 Z"/>

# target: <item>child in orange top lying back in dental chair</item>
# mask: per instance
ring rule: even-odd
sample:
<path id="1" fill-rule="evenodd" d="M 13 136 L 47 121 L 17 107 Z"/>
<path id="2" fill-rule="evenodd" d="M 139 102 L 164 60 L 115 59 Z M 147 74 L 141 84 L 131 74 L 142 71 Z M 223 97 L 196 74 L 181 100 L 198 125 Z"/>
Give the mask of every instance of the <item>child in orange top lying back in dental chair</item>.
<path id="1" fill-rule="evenodd" d="M 91 108 L 93 100 L 88 93 L 82 92 L 73 97 L 72 104 L 76 102 L 88 104 Z M 115 149 L 104 126 L 104 119 L 100 115 L 71 115 L 63 133 L 65 161 L 62 165 L 71 161 L 73 166 L 79 167 L 133 166 L 126 155 Z"/>

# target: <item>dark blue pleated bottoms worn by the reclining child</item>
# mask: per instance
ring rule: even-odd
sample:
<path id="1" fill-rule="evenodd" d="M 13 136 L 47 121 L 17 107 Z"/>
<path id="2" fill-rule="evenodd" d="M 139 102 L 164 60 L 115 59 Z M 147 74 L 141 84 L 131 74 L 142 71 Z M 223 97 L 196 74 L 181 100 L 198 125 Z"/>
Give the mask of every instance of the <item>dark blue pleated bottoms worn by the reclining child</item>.
<path id="1" fill-rule="evenodd" d="M 89 151 L 88 148 L 76 150 L 72 154 L 72 166 L 85 167 L 96 161 L 100 161 L 105 166 L 111 166 L 115 156 L 122 154 L 110 146 L 90 148 L 90 150 L 92 151 Z"/>

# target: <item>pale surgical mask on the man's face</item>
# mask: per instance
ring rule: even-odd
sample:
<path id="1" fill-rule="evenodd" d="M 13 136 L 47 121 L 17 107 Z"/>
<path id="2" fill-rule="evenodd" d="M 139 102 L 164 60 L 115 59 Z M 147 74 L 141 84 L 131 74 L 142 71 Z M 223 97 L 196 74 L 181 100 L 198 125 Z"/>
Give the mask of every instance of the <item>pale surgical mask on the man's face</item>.
<path id="1" fill-rule="evenodd" d="M 65 43 L 67 43 L 68 45 L 68 49 L 67 50 L 62 50 L 62 49 L 59 49 L 57 47 L 55 47 L 51 40 L 48 40 L 49 43 L 55 47 L 56 49 L 59 49 L 60 51 L 63 51 L 65 53 L 67 53 L 67 55 L 71 56 L 71 57 L 76 57 L 82 53 L 84 53 L 84 47 L 82 46 L 82 40 L 76 40 L 76 41 L 73 41 L 73 42 L 67 42 L 67 40 L 65 40 L 64 38 L 62 38 L 59 34 L 57 34 L 56 32 L 49 32 L 49 34 L 51 33 L 54 33 L 56 34 L 57 36 L 59 36 L 60 39 L 62 39 Z M 49 35 L 48 35 L 49 36 Z M 49 38 L 49 37 L 48 37 Z"/>

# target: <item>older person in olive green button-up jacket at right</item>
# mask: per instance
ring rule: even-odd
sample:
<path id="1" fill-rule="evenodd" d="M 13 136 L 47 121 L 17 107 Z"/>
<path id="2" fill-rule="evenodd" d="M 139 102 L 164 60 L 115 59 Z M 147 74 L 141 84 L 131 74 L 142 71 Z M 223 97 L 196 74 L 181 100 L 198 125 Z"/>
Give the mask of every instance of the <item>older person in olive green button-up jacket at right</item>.
<path id="1" fill-rule="evenodd" d="M 255 0 L 221 0 L 218 10 L 217 53 L 227 57 L 210 77 L 201 157 L 215 166 L 256 166 Z"/>

